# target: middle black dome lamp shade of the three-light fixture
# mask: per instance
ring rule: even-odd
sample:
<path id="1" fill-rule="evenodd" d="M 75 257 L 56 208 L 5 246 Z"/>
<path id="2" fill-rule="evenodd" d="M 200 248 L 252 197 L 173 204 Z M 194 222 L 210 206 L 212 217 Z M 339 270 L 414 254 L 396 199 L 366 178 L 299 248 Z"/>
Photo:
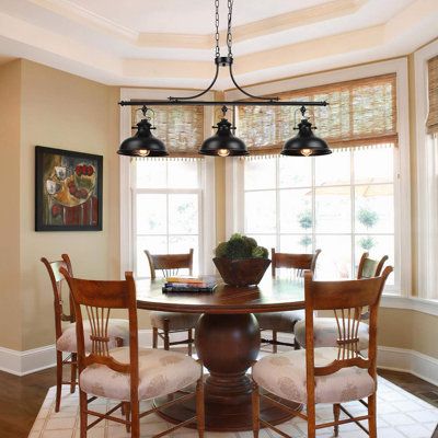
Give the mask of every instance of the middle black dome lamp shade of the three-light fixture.
<path id="1" fill-rule="evenodd" d="M 199 153 L 203 155 L 214 155 L 214 157 L 241 157 L 247 155 L 246 145 L 238 137 L 234 137 L 233 130 L 235 127 L 231 125 L 230 122 L 226 118 L 227 106 L 222 106 L 221 108 L 223 117 L 214 126 L 217 129 L 217 132 L 207 138 L 203 142 L 203 146 L 199 149 Z"/>

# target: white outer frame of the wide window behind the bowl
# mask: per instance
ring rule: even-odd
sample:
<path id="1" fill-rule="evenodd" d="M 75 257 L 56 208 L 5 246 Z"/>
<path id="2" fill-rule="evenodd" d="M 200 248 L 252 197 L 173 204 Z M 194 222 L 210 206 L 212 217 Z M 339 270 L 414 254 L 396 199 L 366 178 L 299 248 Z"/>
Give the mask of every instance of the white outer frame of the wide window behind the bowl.
<path id="1" fill-rule="evenodd" d="M 399 290 L 388 288 L 385 295 L 396 298 L 412 296 L 412 256 L 411 256 L 411 172 L 410 172 L 410 117 L 408 117 L 408 73 L 407 58 L 400 58 L 365 66 L 350 67 L 306 77 L 285 79 L 272 83 L 249 87 L 257 95 L 275 94 L 284 91 L 307 89 L 330 83 L 369 78 L 379 74 L 396 74 L 396 107 L 399 152 L 394 154 L 394 265 L 396 267 L 395 285 Z M 239 99 L 239 91 L 226 93 L 226 100 Z M 239 126 L 238 126 L 239 129 Z M 239 130 L 238 134 L 239 135 Z M 227 160 L 227 237 L 234 231 L 243 230 L 243 175 L 239 171 L 239 158 Z M 404 214 L 403 214 L 404 212 Z M 403 230 L 402 239 L 401 231 Z M 396 295 L 395 295 L 396 293 Z"/>

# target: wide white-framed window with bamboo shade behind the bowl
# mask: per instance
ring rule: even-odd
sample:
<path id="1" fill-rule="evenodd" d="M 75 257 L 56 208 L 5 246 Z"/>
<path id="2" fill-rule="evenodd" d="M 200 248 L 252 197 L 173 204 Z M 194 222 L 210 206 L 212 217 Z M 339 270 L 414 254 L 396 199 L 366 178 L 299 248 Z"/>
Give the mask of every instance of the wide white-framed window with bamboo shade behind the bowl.
<path id="1" fill-rule="evenodd" d="M 367 78 L 367 72 L 378 76 Z M 410 210 L 406 66 L 382 64 L 349 73 L 347 81 L 344 72 L 285 80 L 295 89 L 279 93 L 286 100 L 330 101 L 327 108 L 311 107 L 308 114 L 319 128 L 316 135 L 333 149 L 331 155 L 279 155 L 285 140 L 293 136 L 293 112 L 240 107 L 239 136 L 257 157 L 229 166 L 238 210 L 229 215 L 229 230 L 278 251 L 321 249 L 320 278 L 351 278 L 364 252 L 373 258 L 387 254 L 394 274 L 385 291 L 400 293 L 403 285 L 403 292 L 410 293 L 410 217 L 401 214 Z M 264 91 L 257 89 L 258 94 L 277 94 L 268 85 L 260 89 Z M 408 237 L 403 247 L 402 232 Z"/>

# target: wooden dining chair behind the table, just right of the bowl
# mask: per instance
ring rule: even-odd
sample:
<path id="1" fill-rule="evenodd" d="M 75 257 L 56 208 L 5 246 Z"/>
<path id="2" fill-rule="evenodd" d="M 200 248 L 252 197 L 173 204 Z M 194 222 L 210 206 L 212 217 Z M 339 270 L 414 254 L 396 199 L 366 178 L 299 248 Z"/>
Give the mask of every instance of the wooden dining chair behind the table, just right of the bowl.
<path id="1" fill-rule="evenodd" d="M 312 273 L 315 270 L 316 260 L 321 250 L 316 250 L 313 254 L 288 254 L 277 253 L 272 249 L 272 274 L 273 278 L 277 275 L 278 268 L 289 269 L 295 277 L 302 277 L 304 269 L 310 269 Z M 278 341 L 278 333 L 293 333 L 296 323 L 304 318 L 301 310 L 287 311 L 287 312 L 268 312 L 255 314 L 261 331 L 270 331 L 272 338 L 262 336 L 262 344 L 272 344 L 273 353 L 277 353 L 278 345 L 286 345 L 296 349 L 300 348 L 298 342 L 293 344 Z"/>

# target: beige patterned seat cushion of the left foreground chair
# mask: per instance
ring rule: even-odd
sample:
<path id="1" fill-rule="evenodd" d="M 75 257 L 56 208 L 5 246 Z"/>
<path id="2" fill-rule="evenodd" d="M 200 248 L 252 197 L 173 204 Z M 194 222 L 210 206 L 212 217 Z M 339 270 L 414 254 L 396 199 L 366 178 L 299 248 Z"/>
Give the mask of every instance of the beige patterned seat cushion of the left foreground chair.
<path id="1" fill-rule="evenodd" d="M 114 359 L 129 364 L 129 347 L 111 350 Z M 200 365 L 182 353 L 163 349 L 139 349 L 140 400 L 157 397 L 182 390 L 200 377 Z M 80 388 L 88 394 L 113 400 L 130 400 L 130 377 L 105 365 L 87 367 L 79 378 Z"/>

